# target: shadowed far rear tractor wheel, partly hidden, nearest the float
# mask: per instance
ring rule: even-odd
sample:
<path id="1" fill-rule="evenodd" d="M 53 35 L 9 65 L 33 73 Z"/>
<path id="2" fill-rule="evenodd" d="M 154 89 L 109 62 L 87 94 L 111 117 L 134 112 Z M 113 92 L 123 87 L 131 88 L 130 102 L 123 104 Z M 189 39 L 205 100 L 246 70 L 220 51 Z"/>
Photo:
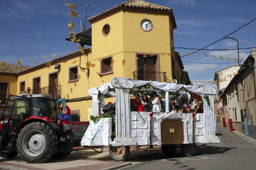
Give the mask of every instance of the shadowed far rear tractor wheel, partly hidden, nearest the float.
<path id="1" fill-rule="evenodd" d="M 66 158 L 73 150 L 75 137 L 72 130 L 64 132 L 66 138 L 65 143 L 62 143 L 58 146 L 56 153 L 52 156 L 52 159 L 62 159 Z"/>

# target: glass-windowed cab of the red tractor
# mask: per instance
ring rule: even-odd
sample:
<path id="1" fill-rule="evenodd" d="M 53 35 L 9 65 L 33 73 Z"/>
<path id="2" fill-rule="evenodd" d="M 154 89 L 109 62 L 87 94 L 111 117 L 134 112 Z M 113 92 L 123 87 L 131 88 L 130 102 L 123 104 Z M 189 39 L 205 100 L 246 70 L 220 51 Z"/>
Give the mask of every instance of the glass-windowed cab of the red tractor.
<path id="1" fill-rule="evenodd" d="M 20 123 L 31 116 L 47 117 L 56 122 L 56 99 L 46 95 L 10 95 L 0 119 L 0 131 L 15 132 Z"/>

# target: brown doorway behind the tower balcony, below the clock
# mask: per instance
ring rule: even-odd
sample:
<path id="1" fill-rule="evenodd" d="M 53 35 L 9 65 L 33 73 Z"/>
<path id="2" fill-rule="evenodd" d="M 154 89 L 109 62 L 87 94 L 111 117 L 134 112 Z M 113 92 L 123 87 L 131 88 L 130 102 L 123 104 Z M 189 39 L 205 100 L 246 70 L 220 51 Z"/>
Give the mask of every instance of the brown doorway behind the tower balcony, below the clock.
<path id="1" fill-rule="evenodd" d="M 160 80 L 157 55 L 137 54 L 137 79 L 144 81 Z"/>

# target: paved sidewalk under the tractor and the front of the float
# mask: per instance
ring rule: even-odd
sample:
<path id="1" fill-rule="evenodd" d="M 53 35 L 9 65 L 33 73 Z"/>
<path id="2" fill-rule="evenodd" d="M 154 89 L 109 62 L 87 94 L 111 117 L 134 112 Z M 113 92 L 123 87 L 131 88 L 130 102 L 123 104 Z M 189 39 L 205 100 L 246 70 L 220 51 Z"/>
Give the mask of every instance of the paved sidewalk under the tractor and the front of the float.
<path id="1" fill-rule="evenodd" d="M 65 159 L 49 159 L 41 164 L 28 164 L 20 159 L 19 156 L 13 159 L 0 158 L 0 169 L 21 170 L 21 169 L 104 169 L 113 170 L 123 168 L 126 166 L 136 165 L 141 163 L 140 161 L 134 161 L 136 158 L 143 158 L 144 156 L 153 154 L 156 151 L 162 152 L 160 146 L 155 146 L 153 149 L 149 149 L 149 146 L 131 146 L 131 153 L 129 160 L 126 162 L 116 162 L 112 160 L 108 153 L 108 148 L 105 147 L 101 153 L 93 151 L 89 146 L 87 148 L 79 148 L 71 152 L 71 154 Z M 100 147 L 94 147 L 97 151 L 100 151 Z M 132 160 L 133 159 L 133 160 Z"/>

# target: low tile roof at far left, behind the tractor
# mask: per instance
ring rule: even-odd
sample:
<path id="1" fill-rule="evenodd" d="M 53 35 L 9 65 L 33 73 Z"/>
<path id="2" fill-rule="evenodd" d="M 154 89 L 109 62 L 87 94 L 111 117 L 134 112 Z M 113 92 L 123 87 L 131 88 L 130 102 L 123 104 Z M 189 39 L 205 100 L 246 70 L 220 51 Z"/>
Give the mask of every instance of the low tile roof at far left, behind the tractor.
<path id="1" fill-rule="evenodd" d="M 6 67 L 0 65 L 0 73 L 3 74 L 18 74 L 22 71 L 31 68 L 30 66 L 21 66 L 16 64 L 6 64 Z"/>

